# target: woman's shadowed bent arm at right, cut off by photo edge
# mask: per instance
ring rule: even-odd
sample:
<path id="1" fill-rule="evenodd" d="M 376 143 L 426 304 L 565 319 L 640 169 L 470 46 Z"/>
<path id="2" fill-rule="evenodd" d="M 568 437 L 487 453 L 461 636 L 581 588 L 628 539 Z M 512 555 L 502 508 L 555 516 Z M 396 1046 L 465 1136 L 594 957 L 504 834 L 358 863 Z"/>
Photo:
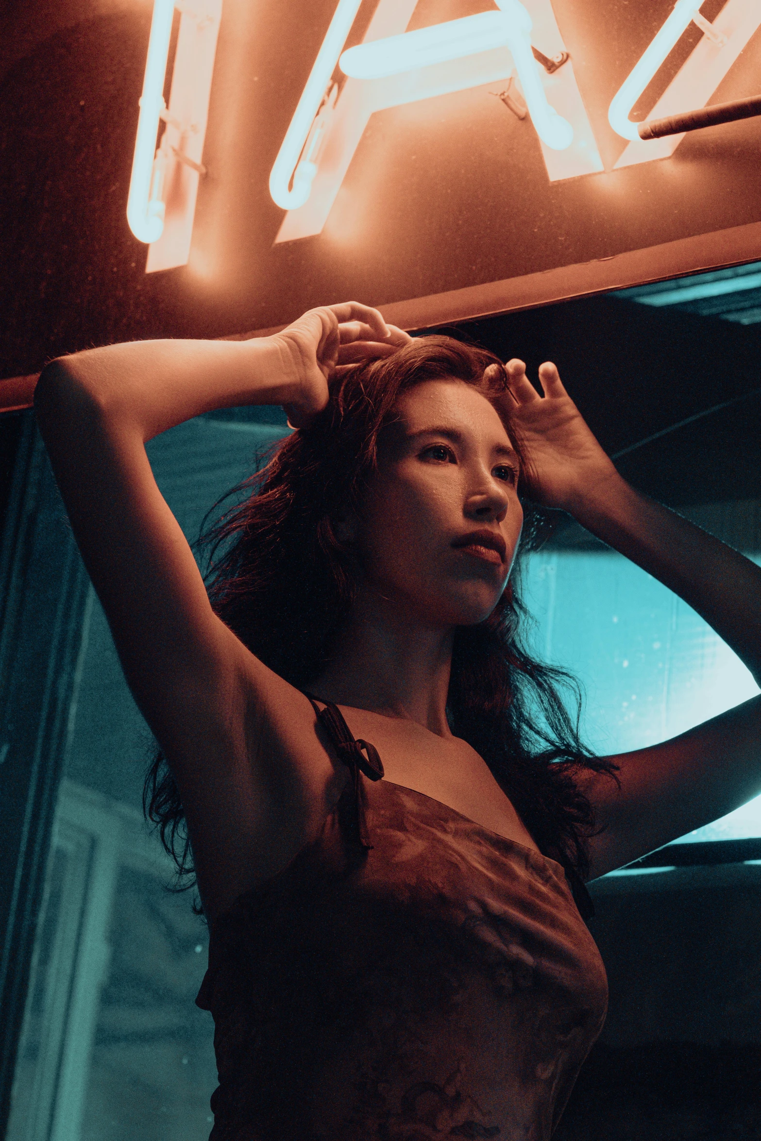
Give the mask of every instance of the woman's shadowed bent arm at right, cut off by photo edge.
<path id="1" fill-rule="evenodd" d="M 679 594 L 735 650 L 761 685 L 761 568 L 618 476 L 552 364 L 540 369 L 544 398 L 508 364 L 532 460 L 532 494 L 569 511 L 593 535 Z M 621 787 L 590 776 L 584 791 L 600 835 L 592 875 L 621 867 L 761 793 L 761 697 L 672 741 L 614 758 Z"/>

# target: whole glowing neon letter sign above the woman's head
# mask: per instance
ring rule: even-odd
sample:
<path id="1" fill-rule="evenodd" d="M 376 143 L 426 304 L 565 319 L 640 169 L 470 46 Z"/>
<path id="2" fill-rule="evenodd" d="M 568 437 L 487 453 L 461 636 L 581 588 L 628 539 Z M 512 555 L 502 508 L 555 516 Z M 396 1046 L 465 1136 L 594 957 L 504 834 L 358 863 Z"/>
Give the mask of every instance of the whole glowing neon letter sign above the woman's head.
<path id="1" fill-rule="evenodd" d="M 495 0 L 496 10 L 406 31 L 416 0 L 378 0 L 362 43 L 345 50 L 362 0 L 338 0 L 269 176 L 285 211 L 276 243 L 321 233 L 370 118 L 377 111 L 486 84 L 527 119 L 548 178 L 604 170 L 598 144 L 551 0 Z M 175 10 L 180 10 L 169 107 L 162 89 Z M 148 243 L 146 272 L 187 261 L 221 15 L 221 0 L 154 0 L 128 220 Z M 759 0 L 727 0 L 709 23 L 696 0 L 673 10 L 614 96 L 608 120 L 626 140 L 622 168 L 667 157 L 682 135 L 643 141 L 632 107 L 685 31 L 701 40 L 650 112 L 667 118 L 704 106 L 761 26 Z M 156 138 L 164 124 L 160 145 Z"/>

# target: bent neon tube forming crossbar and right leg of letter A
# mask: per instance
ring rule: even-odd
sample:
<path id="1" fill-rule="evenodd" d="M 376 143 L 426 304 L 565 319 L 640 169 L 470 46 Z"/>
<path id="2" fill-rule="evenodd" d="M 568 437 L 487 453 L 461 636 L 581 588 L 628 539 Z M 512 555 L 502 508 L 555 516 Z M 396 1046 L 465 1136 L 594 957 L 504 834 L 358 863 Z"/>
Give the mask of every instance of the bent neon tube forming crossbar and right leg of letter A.
<path id="1" fill-rule="evenodd" d="M 565 151 L 573 141 L 574 130 L 547 100 L 532 52 L 532 18 L 518 0 L 496 2 L 501 11 L 483 11 L 349 48 L 339 60 L 341 70 L 353 79 L 387 79 L 418 67 L 507 47 L 536 133 L 553 151 Z"/>

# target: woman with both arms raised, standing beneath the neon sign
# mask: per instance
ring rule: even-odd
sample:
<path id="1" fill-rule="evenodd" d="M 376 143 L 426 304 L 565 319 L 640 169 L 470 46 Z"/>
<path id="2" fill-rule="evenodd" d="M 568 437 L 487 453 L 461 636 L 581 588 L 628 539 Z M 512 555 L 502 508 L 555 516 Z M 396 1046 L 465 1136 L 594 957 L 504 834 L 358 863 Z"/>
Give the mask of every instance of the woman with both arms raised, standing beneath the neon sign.
<path id="1" fill-rule="evenodd" d="M 761 791 L 761 699 L 593 759 L 557 671 L 521 650 L 519 486 L 761 675 L 761 572 L 629 487 L 556 367 L 540 378 L 543 396 L 517 359 L 412 341 L 351 302 L 40 379 L 80 549 L 170 766 L 154 816 L 187 823 L 216 1141 L 549 1138 L 606 1010 L 582 879 Z M 298 431 L 222 520 L 209 597 L 144 444 L 267 403 Z"/>

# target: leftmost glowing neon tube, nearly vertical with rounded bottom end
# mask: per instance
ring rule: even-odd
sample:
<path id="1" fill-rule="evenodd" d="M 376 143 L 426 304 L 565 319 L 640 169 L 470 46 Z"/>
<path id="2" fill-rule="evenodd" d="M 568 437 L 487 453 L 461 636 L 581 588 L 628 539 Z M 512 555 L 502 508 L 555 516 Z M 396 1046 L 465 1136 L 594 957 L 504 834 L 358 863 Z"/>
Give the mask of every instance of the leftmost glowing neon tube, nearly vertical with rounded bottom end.
<path id="1" fill-rule="evenodd" d="M 164 228 L 161 163 L 156 165 L 154 171 L 154 153 L 159 120 L 164 111 L 163 87 L 173 15 L 173 0 L 154 0 L 148 56 L 145 62 L 145 78 L 140 97 L 140 115 L 135 139 L 132 177 L 127 199 L 127 221 L 138 242 L 157 241 Z"/>

